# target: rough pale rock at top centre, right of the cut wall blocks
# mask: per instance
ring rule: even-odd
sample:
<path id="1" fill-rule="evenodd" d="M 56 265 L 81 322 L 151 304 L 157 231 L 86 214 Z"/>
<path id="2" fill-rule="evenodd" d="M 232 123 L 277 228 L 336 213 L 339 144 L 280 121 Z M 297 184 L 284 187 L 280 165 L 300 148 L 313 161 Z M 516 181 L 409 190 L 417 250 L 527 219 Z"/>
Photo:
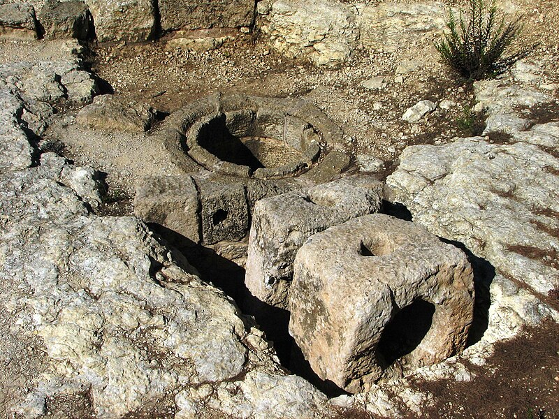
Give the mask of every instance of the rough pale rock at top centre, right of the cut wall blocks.
<path id="1" fill-rule="evenodd" d="M 338 66 L 358 47 L 354 7 L 335 0 L 277 0 L 258 5 L 270 46 L 289 58 Z"/>

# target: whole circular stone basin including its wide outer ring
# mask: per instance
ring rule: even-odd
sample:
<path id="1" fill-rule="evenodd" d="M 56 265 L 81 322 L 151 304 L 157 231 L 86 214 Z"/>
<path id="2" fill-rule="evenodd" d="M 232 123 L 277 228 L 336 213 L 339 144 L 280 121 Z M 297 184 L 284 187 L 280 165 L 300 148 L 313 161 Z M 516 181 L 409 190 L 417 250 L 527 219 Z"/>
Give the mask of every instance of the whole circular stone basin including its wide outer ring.
<path id="1" fill-rule="evenodd" d="M 166 145 L 204 168 L 260 179 L 293 177 L 341 130 L 305 101 L 247 95 L 210 96 L 168 117 Z"/>

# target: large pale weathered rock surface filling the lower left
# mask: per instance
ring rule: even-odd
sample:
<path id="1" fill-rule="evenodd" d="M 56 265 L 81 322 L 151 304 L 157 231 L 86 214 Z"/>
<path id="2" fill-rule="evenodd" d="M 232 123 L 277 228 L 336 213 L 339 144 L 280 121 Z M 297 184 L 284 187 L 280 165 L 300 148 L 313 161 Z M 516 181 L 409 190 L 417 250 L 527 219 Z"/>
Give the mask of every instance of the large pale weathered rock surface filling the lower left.
<path id="1" fill-rule="evenodd" d="M 2 94 L 3 144 L 22 103 Z M 0 172 L 1 416 L 324 417 L 324 395 L 187 260 L 133 217 L 89 212 L 93 170 L 52 153 L 26 168 L 32 152 Z"/>

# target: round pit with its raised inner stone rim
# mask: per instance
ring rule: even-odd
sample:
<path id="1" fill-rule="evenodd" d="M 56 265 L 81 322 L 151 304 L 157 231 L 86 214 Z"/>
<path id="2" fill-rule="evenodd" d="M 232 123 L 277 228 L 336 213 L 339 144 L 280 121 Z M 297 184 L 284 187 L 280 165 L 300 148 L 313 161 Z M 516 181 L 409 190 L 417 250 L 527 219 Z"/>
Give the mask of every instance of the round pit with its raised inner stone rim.
<path id="1" fill-rule="evenodd" d="M 187 133 L 189 155 L 201 165 L 261 178 L 303 172 L 318 158 L 319 140 L 302 119 L 252 110 L 209 115 Z"/>

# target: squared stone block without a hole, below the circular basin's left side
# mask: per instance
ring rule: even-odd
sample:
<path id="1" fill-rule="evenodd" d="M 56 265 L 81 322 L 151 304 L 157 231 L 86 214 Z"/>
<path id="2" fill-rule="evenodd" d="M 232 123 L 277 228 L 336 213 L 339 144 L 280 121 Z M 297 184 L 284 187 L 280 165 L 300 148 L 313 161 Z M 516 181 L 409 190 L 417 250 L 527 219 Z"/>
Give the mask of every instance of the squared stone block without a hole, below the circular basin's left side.
<path id="1" fill-rule="evenodd" d="M 134 213 L 194 243 L 200 242 L 198 191 L 190 176 L 142 179 L 136 188 Z"/>

